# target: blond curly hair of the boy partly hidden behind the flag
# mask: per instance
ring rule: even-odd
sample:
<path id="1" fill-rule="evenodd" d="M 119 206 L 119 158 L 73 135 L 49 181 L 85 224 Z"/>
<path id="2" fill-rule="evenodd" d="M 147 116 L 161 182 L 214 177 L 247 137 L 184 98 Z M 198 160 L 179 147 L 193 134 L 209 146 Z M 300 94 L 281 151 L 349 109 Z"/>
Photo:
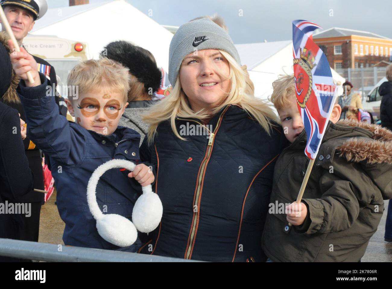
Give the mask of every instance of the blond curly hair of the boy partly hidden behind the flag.
<path id="1" fill-rule="evenodd" d="M 279 75 L 278 79 L 272 82 L 272 88 L 274 91 L 271 94 L 270 101 L 274 104 L 274 107 L 277 110 L 289 107 L 292 98 L 295 96 L 294 74 Z"/>

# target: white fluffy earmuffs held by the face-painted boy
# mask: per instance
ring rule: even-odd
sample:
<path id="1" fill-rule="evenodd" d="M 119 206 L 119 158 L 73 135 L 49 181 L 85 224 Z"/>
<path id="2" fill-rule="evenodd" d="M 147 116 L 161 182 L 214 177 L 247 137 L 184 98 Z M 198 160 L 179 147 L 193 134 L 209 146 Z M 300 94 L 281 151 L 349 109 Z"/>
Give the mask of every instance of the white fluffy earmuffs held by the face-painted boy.
<path id="1" fill-rule="evenodd" d="M 117 214 L 103 214 L 96 199 L 96 186 L 100 177 L 112 168 L 126 168 L 133 171 L 136 165 L 123 159 L 112 159 L 96 168 L 87 185 L 87 202 L 96 220 L 100 236 L 107 242 L 120 247 L 131 246 L 138 232 L 149 233 L 158 227 L 162 219 L 162 202 L 152 191 L 151 185 L 142 187 L 143 194 L 136 200 L 132 211 L 132 221 Z M 137 230 L 136 230 L 137 229 Z"/>

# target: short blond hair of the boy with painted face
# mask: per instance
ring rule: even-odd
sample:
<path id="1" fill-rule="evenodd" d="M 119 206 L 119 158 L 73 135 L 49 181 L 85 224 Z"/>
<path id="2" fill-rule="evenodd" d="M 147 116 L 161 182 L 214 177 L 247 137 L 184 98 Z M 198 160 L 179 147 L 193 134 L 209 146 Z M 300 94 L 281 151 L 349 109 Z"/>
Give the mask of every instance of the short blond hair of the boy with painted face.
<path id="1" fill-rule="evenodd" d="M 68 75 L 68 95 L 72 95 L 73 86 L 78 87 L 78 93 L 107 89 L 123 94 L 126 102 L 129 81 L 129 70 L 116 61 L 108 58 L 85 60 L 78 63 Z"/>

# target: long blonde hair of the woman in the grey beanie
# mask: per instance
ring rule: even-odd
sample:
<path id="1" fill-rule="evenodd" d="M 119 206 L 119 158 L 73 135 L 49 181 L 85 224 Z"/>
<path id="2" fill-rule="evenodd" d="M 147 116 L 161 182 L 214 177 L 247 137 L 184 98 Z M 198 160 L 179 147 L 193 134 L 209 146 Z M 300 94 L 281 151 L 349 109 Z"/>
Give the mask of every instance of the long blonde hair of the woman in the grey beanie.
<path id="1" fill-rule="evenodd" d="M 240 65 L 238 65 L 237 61 L 234 60 L 229 53 L 221 50 L 219 50 L 219 52 L 229 62 L 230 74 L 227 78 L 230 79 L 231 86 L 227 98 L 212 111 L 212 114 L 216 114 L 228 104 L 239 105 L 252 118 L 254 118 L 268 134 L 270 134 L 270 130 L 273 125 L 271 121 L 278 121 L 271 105 L 267 104 L 267 101 L 255 98 L 254 95 L 247 94 L 248 90 L 245 83 L 246 78 Z M 187 96 L 181 89 L 180 79 L 177 77 L 176 85 L 174 86 L 172 93 L 156 105 L 152 106 L 143 116 L 143 120 L 150 124 L 147 134 L 148 142 L 150 144 L 152 143 L 158 125 L 163 121 L 170 119 L 171 128 L 176 137 L 181 140 L 186 140 L 181 137 L 177 131 L 175 124 L 176 117 L 203 120 L 207 119 L 209 116 L 210 114 L 204 110 L 194 112 L 191 109 Z"/>

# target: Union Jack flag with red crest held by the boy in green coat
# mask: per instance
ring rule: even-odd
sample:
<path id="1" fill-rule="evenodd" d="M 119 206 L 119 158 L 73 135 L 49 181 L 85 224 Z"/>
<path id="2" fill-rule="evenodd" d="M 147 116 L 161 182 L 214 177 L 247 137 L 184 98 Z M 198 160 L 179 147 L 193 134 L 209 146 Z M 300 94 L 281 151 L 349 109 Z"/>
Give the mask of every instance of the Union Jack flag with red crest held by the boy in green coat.
<path id="1" fill-rule="evenodd" d="M 308 137 L 305 155 L 315 159 L 335 103 L 335 85 L 327 57 L 311 34 L 320 26 L 293 21 L 294 81 L 297 106 Z"/>

